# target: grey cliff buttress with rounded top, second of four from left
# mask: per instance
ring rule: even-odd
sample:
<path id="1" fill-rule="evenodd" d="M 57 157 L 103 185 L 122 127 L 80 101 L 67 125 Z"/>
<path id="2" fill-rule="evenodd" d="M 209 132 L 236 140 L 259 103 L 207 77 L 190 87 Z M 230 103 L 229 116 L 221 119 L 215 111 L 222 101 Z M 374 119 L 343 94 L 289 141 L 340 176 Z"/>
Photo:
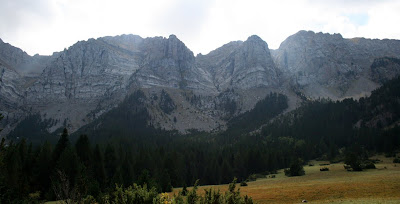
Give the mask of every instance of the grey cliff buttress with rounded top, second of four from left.
<path id="1" fill-rule="evenodd" d="M 140 87 L 215 92 L 209 73 L 195 66 L 193 52 L 175 35 L 147 38 L 140 51 L 140 69 L 133 76 Z"/>

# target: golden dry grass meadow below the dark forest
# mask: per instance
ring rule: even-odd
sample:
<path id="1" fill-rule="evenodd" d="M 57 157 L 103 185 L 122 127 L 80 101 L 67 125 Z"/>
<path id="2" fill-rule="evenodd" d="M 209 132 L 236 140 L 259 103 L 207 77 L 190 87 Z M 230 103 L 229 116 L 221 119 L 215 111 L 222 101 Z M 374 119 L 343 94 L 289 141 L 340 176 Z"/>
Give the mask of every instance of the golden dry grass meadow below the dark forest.
<path id="1" fill-rule="evenodd" d="M 314 166 L 304 167 L 305 176 L 286 177 L 281 170 L 276 178 L 248 182 L 240 191 L 257 203 L 400 203 L 400 165 L 393 164 L 393 158 L 376 158 L 383 161 L 376 164 L 377 169 L 348 172 L 343 163 L 338 163 L 324 166 L 330 170 L 321 172 L 319 164 L 326 162 L 314 162 Z M 210 187 L 222 192 L 228 188 L 200 186 L 198 193 Z M 179 190 L 174 189 L 172 194 Z"/>

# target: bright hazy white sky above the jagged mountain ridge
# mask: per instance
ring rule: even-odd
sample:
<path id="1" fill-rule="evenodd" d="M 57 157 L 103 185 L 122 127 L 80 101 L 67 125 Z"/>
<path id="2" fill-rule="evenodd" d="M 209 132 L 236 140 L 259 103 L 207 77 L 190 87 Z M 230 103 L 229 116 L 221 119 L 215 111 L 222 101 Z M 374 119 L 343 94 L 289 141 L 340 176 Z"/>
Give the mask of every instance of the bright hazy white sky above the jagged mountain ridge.
<path id="1" fill-rule="evenodd" d="M 120 34 L 175 34 L 195 54 L 299 30 L 400 39 L 399 22 L 400 0 L 0 0 L 0 38 L 30 55 Z"/>

